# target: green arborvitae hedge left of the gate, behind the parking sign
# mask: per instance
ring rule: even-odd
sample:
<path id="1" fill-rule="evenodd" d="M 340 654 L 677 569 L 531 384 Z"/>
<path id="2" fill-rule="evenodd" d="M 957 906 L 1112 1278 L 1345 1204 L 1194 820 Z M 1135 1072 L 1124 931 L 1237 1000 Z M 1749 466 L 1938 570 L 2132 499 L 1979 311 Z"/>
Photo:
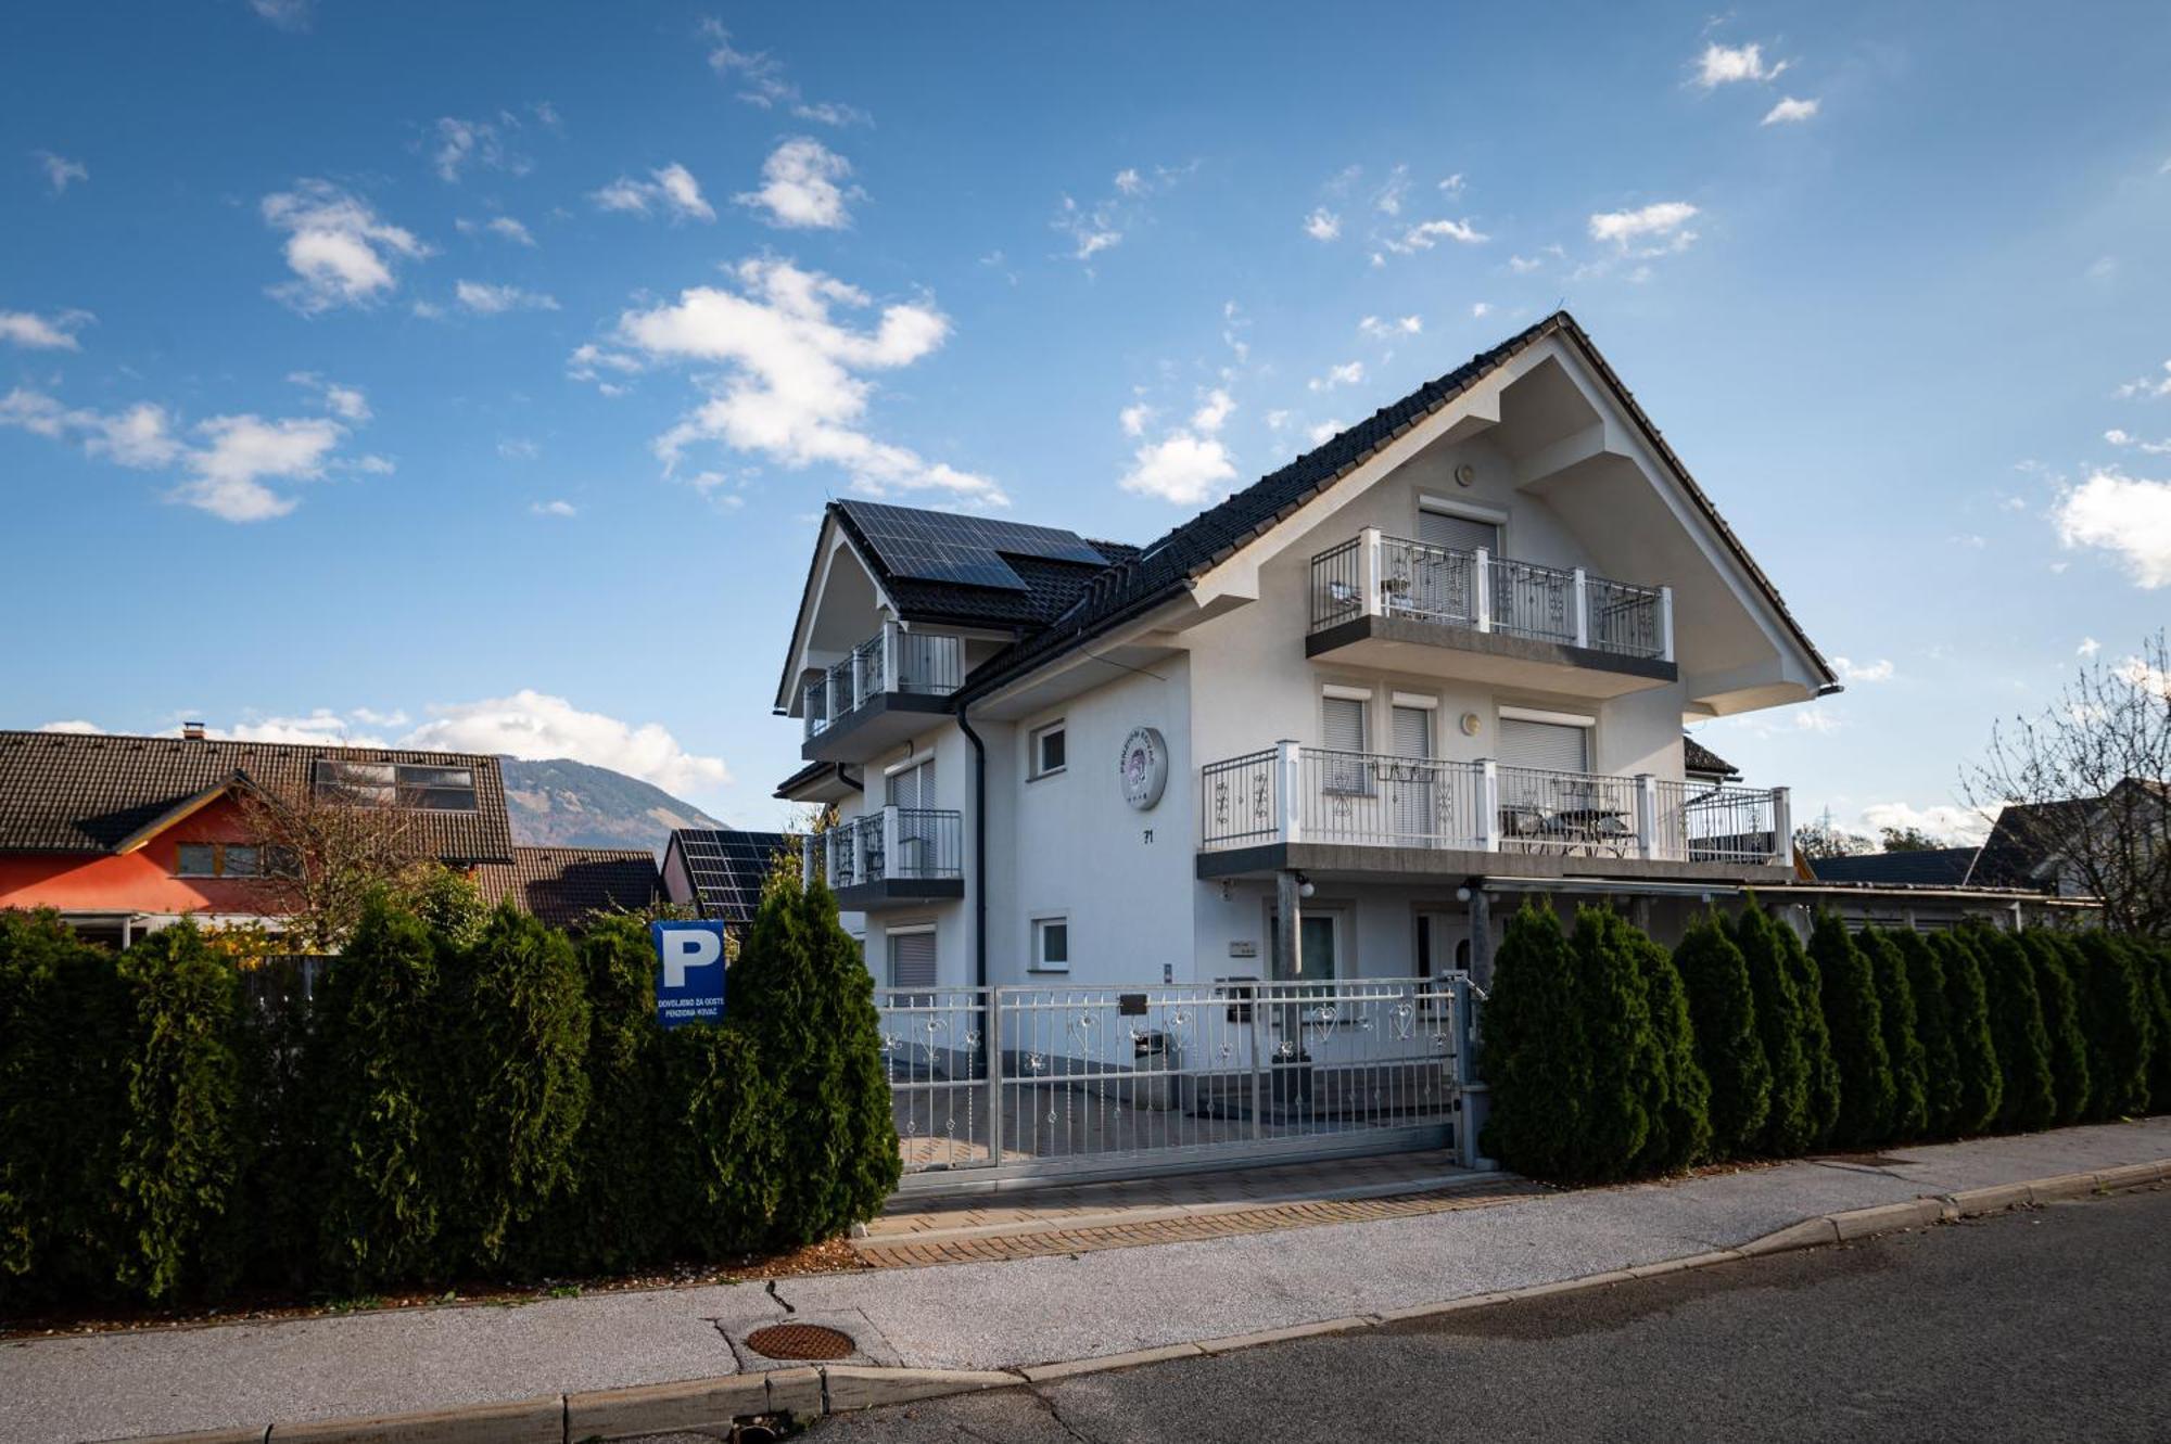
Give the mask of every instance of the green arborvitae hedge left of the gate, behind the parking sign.
<path id="1" fill-rule="evenodd" d="M 894 1188 L 827 891 L 775 878 L 727 1021 L 671 1032 L 645 919 L 421 906 L 371 898 L 306 1006 L 193 924 L 115 956 L 0 913 L 0 1310 L 721 1262 Z"/>

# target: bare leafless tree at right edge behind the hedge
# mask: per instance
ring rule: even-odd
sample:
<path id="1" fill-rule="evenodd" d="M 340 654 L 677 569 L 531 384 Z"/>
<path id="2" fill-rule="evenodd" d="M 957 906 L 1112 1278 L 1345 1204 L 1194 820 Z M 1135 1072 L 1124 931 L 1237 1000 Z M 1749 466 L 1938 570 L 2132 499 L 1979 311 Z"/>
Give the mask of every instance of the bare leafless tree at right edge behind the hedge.
<path id="1" fill-rule="evenodd" d="M 2171 937 L 2171 644 L 2086 661 L 2036 718 L 1991 731 L 1963 774 L 1967 800 L 2006 813 L 1999 833 L 2043 859 L 2060 893 L 2104 900 L 2117 932 Z M 1993 839 L 1995 841 L 1995 839 Z"/>

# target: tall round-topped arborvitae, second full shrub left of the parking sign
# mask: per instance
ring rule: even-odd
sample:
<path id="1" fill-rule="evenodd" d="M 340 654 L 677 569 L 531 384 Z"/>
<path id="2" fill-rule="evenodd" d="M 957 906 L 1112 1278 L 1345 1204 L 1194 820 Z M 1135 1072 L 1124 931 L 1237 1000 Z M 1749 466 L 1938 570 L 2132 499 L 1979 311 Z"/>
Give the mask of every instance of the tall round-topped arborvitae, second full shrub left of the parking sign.
<path id="1" fill-rule="evenodd" d="M 323 1277 L 365 1292 L 443 1273 L 456 1192 L 458 1043 L 441 1000 L 441 947 L 376 893 L 317 989 L 308 1095 L 317 1099 Z"/>

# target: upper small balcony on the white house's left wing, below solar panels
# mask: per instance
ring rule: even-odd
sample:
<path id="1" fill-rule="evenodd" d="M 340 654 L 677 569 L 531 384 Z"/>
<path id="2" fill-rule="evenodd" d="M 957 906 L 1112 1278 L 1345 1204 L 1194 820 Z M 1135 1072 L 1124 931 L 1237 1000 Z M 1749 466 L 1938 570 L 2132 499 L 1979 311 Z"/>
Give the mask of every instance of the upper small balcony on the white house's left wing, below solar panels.
<path id="1" fill-rule="evenodd" d="M 884 629 L 825 672 L 805 681 L 801 713 L 805 761 L 864 763 L 947 713 L 964 685 L 964 640 Z"/>

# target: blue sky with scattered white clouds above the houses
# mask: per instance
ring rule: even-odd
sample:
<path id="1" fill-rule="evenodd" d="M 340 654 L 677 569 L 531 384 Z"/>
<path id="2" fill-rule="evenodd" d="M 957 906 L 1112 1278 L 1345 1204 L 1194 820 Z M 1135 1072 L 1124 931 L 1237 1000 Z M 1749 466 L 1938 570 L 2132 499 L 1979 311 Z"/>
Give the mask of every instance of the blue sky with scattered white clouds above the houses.
<path id="1" fill-rule="evenodd" d="M 1146 542 L 1565 304 L 1841 659 L 1698 737 L 1958 837 L 1991 724 L 2171 601 L 2164 54 L 2162 4 L 24 0 L 0 726 L 773 826 L 825 499 Z"/>

